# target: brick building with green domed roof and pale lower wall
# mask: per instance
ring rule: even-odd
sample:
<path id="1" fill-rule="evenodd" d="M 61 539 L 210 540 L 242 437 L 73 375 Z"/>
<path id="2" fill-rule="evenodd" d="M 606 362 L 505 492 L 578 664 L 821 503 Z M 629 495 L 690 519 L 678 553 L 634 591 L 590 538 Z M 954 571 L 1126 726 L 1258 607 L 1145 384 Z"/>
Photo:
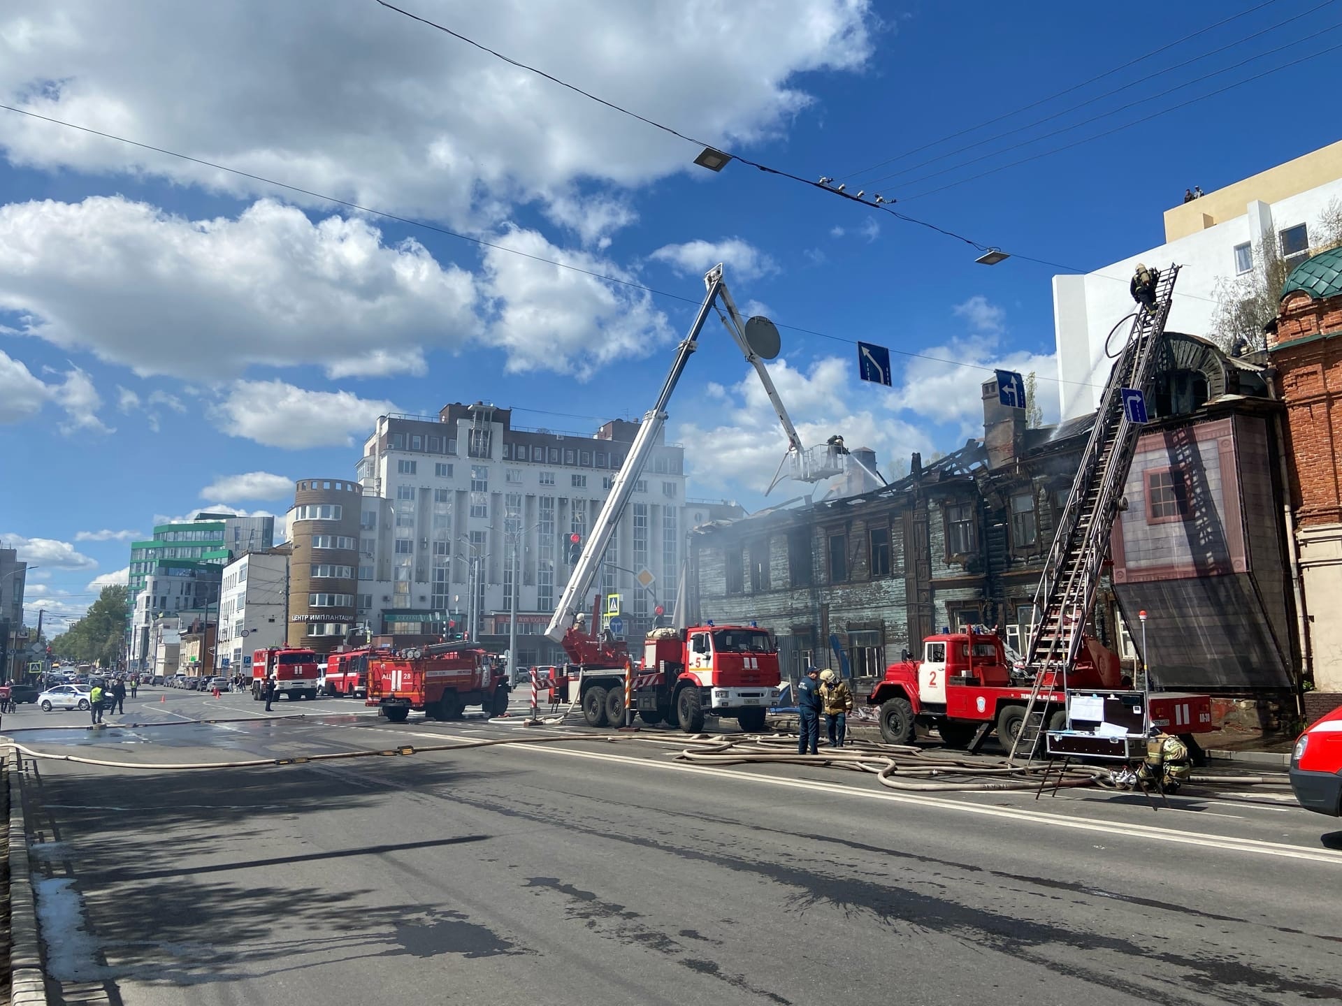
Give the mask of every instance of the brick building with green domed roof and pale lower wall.
<path id="1" fill-rule="evenodd" d="M 1268 351 L 1286 402 L 1291 504 L 1304 596 L 1311 716 L 1342 706 L 1342 248 L 1296 266 L 1282 288 Z"/>

